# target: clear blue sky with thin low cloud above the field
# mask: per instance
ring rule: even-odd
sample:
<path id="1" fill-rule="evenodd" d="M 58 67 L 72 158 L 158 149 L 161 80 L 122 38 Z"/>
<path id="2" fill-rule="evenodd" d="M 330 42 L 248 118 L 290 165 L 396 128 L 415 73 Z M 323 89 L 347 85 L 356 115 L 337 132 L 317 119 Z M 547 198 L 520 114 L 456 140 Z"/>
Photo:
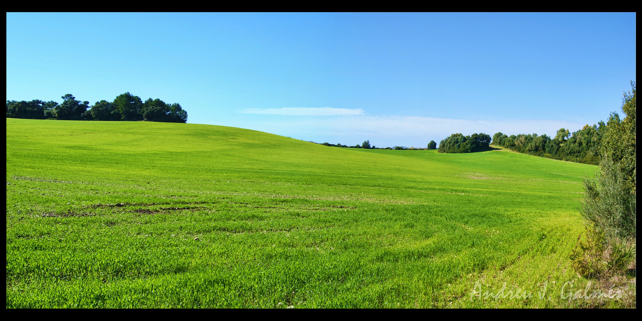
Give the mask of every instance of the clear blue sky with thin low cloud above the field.
<path id="1" fill-rule="evenodd" d="M 635 13 L 7 13 L 7 100 L 131 92 L 188 123 L 421 146 L 620 110 Z"/>

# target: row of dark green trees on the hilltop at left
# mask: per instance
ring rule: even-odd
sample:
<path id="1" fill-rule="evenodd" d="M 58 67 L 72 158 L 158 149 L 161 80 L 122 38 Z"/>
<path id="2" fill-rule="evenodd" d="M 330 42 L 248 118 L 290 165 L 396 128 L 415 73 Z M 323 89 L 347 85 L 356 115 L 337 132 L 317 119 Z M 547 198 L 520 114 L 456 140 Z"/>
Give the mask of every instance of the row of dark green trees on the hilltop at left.
<path id="1" fill-rule="evenodd" d="M 160 121 L 164 123 L 186 123 L 187 112 L 178 103 L 166 103 L 149 98 L 142 101 L 129 92 L 119 94 L 114 101 L 80 101 L 72 94 L 62 96 L 62 103 L 56 101 L 6 101 L 6 117 L 28 119 L 58 119 L 85 121 Z"/>

